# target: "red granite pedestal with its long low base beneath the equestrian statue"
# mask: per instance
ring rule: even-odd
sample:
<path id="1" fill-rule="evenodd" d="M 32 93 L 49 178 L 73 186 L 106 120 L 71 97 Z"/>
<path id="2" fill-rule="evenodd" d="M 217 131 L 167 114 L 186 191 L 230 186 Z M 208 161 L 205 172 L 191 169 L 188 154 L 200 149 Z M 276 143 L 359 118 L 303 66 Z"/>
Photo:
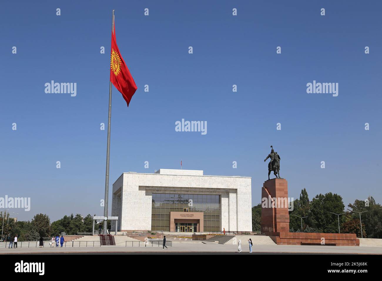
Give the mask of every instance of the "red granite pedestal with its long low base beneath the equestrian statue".
<path id="1" fill-rule="evenodd" d="M 289 232 L 288 182 L 271 179 L 261 188 L 261 232 L 277 245 L 359 246 L 356 234 Z"/>

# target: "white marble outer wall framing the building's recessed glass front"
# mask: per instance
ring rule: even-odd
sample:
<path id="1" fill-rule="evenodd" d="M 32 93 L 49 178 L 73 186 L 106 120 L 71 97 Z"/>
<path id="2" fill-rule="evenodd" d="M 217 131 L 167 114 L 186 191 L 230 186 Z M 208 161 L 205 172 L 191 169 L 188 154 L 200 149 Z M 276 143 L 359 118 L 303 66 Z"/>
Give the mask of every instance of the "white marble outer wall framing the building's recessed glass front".
<path id="1" fill-rule="evenodd" d="M 250 177 L 200 175 L 202 171 L 194 170 L 172 172 L 166 169 L 162 173 L 162 170 L 155 174 L 124 173 L 113 184 L 112 215 L 120 216 L 121 230 L 151 229 L 153 192 L 182 192 L 221 195 L 222 230 L 224 227 L 226 231 L 252 231 Z M 122 208 L 118 214 L 117 194 L 120 191 Z"/>

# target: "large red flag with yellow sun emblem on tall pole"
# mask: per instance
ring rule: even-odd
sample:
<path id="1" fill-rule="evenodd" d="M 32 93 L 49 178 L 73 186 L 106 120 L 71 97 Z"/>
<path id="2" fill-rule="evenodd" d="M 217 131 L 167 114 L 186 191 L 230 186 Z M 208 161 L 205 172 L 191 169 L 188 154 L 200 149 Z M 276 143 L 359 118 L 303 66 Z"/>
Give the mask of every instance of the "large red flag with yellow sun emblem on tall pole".
<path id="1" fill-rule="evenodd" d="M 131 97 L 133 97 L 133 94 L 137 90 L 137 85 L 118 49 L 117 40 L 115 39 L 115 23 L 114 32 L 112 32 L 112 49 L 110 52 L 110 81 L 115 88 L 120 91 L 127 106 L 129 106 Z"/>

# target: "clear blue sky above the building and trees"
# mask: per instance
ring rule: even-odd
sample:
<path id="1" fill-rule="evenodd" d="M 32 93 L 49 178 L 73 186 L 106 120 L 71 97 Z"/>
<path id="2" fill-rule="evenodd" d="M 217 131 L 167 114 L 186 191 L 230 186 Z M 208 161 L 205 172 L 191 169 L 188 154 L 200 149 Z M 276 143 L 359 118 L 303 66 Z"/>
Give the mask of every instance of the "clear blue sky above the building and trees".
<path id="1" fill-rule="evenodd" d="M 117 44 L 138 90 L 127 107 L 113 87 L 110 198 L 123 172 L 179 169 L 182 159 L 184 169 L 207 175 L 252 177 L 256 205 L 273 145 L 290 197 L 306 188 L 309 198 L 338 193 L 345 206 L 370 195 L 381 203 L 381 8 L 378 1 L 3 2 L 0 197 L 31 197 L 31 211 L 11 210 L 21 220 L 103 214 L 100 123 L 107 124 L 115 9 Z M 51 80 L 77 83 L 77 96 L 45 93 Z M 313 80 L 338 83 L 338 96 L 306 93 Z M 176 132 L 182 118 L 207 121 L 207 134 Z"/>

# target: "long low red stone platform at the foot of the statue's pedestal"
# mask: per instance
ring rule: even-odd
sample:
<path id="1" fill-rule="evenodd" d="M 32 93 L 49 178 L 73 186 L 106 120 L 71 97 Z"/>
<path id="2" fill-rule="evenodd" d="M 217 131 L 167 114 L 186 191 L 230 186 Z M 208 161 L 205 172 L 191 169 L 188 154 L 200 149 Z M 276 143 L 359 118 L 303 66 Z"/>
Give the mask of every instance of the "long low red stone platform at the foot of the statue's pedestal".
<path id="1" fill-rule="evenodd" d="M 356 237 L 356 234 L 267 232 L 265 235 L 270 236 L 277 245 L 359 246 L 359 239 Z"/>

